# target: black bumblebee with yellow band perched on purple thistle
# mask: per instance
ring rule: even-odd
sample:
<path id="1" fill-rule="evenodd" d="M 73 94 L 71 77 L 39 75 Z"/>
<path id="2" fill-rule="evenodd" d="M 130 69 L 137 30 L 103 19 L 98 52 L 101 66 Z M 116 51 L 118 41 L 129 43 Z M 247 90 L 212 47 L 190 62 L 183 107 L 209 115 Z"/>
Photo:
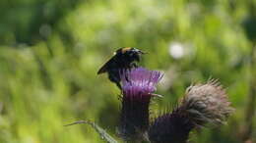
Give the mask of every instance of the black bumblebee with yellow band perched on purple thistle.
<path id="1" fill-rule="evenodd" d="M 145 52 L 133 47 L 120 48 L 116 50 L 114 56 L 97 71 L 97 74 L 107 72 L 109 80 L 114 82 L 121 89 L 119 72 L 137 67 L 136 62 L 140 62 L 142 54 L 145 54 Z"/>

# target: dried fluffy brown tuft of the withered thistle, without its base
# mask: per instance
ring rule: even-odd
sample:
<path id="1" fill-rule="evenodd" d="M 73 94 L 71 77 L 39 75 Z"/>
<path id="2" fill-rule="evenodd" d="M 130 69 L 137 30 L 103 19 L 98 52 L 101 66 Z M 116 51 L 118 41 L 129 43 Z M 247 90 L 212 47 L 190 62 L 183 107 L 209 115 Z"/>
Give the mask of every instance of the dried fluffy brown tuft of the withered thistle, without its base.
<path id="1" fill-rule="evenodd" d="M 220 125 L 233 112 L 223 86 L 217 80 L 206 84 L 195 84 L 187 88 L 180 104 L 197 126 Z"/>

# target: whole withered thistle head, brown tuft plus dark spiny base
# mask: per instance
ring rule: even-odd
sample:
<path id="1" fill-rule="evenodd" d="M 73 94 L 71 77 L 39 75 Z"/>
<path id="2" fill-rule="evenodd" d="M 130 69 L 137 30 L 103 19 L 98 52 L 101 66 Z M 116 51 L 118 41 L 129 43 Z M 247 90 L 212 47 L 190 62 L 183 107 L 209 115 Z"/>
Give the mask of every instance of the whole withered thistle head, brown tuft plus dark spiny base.
<path id="1" fill-rule="evenodd" d="M 160 116 L 151 124 L 149 139 L 153 143 L 186 143 L 193 128 L 221 125 L 232 111 L 219 82 L 210 80 L 190 86 L 172 113 Z"/>

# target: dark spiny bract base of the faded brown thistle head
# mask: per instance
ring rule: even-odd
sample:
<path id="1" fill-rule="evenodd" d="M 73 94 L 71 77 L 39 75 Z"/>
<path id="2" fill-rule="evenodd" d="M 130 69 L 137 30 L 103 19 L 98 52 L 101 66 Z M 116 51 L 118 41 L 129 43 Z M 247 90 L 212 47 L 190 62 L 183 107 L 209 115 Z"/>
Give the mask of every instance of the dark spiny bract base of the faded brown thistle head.
<path id="1" fill-rule="evenodd" d="M 156 119 L 148 135 L 152 143 L 185 143 L 193 127 L 187 115 L 176 109 Z"/>

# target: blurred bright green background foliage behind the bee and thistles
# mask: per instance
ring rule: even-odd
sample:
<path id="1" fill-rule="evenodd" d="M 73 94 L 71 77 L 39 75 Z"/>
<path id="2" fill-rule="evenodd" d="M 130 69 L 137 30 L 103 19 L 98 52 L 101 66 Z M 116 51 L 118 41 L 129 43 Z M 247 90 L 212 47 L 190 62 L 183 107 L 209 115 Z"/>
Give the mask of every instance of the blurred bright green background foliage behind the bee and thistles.
<path id="1" fill-rule="evenodd" d="M 235 113 L 192 143 L 255 142 L 256 0 L 1 0 L 0 142 L 99 143 L 115 134 L 120 94 L 96 71 L 118 47 L 164 71 L 152 117 L 186 87 L 218 78 Z"/>

